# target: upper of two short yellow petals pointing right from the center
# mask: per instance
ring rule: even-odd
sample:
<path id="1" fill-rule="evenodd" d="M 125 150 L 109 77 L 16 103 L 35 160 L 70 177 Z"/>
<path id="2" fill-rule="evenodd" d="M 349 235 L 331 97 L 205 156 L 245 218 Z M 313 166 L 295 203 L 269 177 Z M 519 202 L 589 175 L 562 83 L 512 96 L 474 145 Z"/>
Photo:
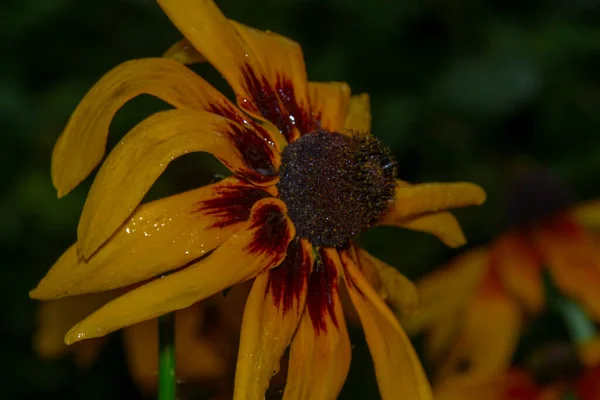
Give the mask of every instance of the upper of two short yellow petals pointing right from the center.
<path id="1" fill-rule="evenodd" d="M 379 221 L 382 225 L 394 225 L 423 213 L 442 211 L 448 208 L 479 205 L 485 201 L 483 189 L 473 183 L 422 183 L 407 186 L 396 185 L 396 197 L 390 210 Z"/>

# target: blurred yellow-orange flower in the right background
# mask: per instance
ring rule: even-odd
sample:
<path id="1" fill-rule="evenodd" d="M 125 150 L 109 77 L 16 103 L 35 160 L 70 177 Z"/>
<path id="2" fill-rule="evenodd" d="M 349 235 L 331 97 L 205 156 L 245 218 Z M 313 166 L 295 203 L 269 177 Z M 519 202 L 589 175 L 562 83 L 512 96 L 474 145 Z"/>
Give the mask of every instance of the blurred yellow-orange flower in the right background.
<path id="1" fill-rule="evenodd" d="M 426 332 L 427 358 L 438 379 L 492 375 L 511 362 L 524 316 L 546 308 L 543 272 L 600 321 L 600 202 L 559 212 L 464 253 L 417 283 L 420 309 L 406 319 Z M 600 360 L 593 336 L 578 341 L 584 364 Z"/>

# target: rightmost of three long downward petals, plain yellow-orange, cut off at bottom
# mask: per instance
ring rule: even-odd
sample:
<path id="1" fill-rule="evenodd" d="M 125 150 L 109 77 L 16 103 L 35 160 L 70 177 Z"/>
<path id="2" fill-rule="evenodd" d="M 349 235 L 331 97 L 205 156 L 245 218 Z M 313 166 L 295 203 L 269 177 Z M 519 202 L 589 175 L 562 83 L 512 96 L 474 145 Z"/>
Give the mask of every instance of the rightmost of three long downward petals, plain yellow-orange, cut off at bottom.
<path id="1" fill-rule="evenodd" d="M 432 399 L 423 367 L 400 323 L 368 284 L 347 252 L 340 254 L 345 281 L 358 312 L 383 400 Z"/>

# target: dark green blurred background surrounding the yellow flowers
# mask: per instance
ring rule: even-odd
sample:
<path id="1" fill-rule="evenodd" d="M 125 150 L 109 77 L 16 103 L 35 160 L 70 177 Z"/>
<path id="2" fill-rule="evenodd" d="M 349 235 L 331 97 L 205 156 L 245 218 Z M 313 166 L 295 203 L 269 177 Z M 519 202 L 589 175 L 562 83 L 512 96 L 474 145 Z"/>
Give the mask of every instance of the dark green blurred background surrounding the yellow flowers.
<path id="1" fill-rule="evenodd" d="M 555 174 L 579 199 L 600 196 L 597 0 L 219 5 L 230 18 L 299 41 L 312 80 L 343 80 L 355 93 L 369 92 L 374 133 L 393 148 L 402 179 L 481 184 L 487 204 L 457 213 L 472 244 L 507 226 L 508 189 L 525 167 Z M 70 112 L 111 67 L 158 56 L 180 35 L 150 0 L 3 0 L 0 17 L 0 398 L 136 398 L 118 340 L 89 371 L 68 359 L 37 360 L 36 304 L 27 291 L 75 240 L 90 184 L 62 200 L 51 185 L 51 149 Z M 224 87 L 209 66 L 198 71 Z M 117 115 L 110 141 L 162 107 L 134 100 Z M 208 156 L 186 156 L 151 197 L 206 183 L 217 170 Z M 375 230 L 364 242 L 411 277 L 456 253 L 396 229 Z M 376 399 L 356 332 L 341 398 Z"/>

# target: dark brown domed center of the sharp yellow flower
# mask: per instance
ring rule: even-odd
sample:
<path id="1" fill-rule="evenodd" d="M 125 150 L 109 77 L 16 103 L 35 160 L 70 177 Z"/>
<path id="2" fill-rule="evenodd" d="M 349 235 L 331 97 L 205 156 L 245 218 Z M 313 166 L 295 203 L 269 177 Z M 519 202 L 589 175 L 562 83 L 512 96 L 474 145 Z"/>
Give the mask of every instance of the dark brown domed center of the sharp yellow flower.
<path id="1" fill-rule="evenodd" d="M 316 131 L 284 149 L 277 187 L 298 236 L 339 247 L 387 211 L 395 176 L 390 149 L 374 136 Z"/>

